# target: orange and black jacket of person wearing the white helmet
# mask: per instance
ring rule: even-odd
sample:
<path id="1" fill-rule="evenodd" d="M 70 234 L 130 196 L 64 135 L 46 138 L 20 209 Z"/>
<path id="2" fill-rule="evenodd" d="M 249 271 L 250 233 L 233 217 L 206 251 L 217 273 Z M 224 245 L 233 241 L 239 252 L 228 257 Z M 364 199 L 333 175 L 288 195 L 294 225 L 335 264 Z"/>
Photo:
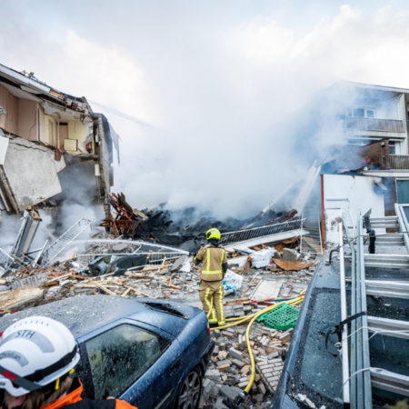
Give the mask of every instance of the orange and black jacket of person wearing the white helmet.
<path id="1" fill-rule="evenodd" d="M 132 404 L 118 399 L 82 399 L 83 384 L 75 379 L 73 386 L 74 388 L 77 387 L 74 390 L 71 388 L 71 392 L 65 397 L 58 399 L 53 404 L 46 404 L 41 409 L 60 409 L 63 407 L 66 409 L 136 409 Z"/>

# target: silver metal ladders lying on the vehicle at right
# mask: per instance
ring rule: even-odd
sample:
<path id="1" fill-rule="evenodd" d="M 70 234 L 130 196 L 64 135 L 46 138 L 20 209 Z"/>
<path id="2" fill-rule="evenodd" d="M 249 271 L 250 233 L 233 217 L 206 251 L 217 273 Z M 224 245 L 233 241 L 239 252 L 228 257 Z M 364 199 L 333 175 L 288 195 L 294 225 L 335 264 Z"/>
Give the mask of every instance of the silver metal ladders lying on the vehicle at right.
<path id="1" fill-rule="evenodd" d="M 390 241 L 384 240 L 381 243 L 376 239 L 376 245 L 393 243 L 405 245 L 409 251 L 409 240 L 407 237 L 408 224 L 404 216 L 402 205 L 396 205 L 397 216 L 372 218 L 371 225 L 376 228 L 399 228 L 400 234 L 391 234 Z M 364 254 L 364 223 L 363 217 L 359 215 L 356 225 L 356 240 L 352 237 L 352 232 L 345 226 L 347 242 L 350 244 L 352 252 L 352 272 L 351 272 L 351 311 L 354 319 L 351 321 L 351 329 L 347 332 L 347 326 L 343 328 L 343 397 L 344 404 L 351 404 L 352 409 L 368 409 L 373 407 L 373 388 L 383 389 L 409 396 L 409 376 L 387 371 L 383 368 L 374 368 L 370 364 L 369 333 L 381 332 L 386 336 L 404 338 L 409 340 L 409 322 L 395 319 L 388 319 L 382 316 L 371 316 L 367 314 L 366 297 L 393 297 L 409 299 L 409 280 L 394 280 L 389 277 L 385 280 L 366 278 L 366 268 L 398 269 L 409 271 L 409 255 L 406 254 Z M 342 234 L 342 224 L 340 224 L 340 244 L 344 242 Z M 367 234 L 366 234 L 367 235 Z M 385 237 L 388 237 L 385 236 Z M 386 244 L 387 245 L 387 244 Z M 344 250 L 340 253 L 343 255 Z M 409 253 L 409 252 L 408 252 Z M 341 305 L 345 317 L 346 295 L 344 261 L 340 264 L 341 269 Z M 374 270 L 373 270 L 374 271 Z M 382 313 L 381 313 L 382 315 Z M 344 351 L 348 348 L 345 341 L 349 336 L 350 358 Z"/>

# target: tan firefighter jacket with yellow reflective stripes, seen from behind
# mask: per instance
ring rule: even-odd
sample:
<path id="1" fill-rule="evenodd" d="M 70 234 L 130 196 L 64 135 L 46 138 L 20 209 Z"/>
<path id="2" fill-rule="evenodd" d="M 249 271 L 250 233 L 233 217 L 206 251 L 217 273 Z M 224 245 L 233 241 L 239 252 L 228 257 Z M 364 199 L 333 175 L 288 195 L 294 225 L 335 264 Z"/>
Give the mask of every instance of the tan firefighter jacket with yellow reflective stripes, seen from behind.
<path id="1" fill-rule="evenodd" d="M 207 244 L 205 247 L 202 247 L 195 257 L 195 263 L 201 262 L 203 263 L 202 274 L 200 275 L 202 281 L 223 280 L 222 264 L 227 263 L 227 258 L 222 246 L 215 247 L 212 244 Z"/>

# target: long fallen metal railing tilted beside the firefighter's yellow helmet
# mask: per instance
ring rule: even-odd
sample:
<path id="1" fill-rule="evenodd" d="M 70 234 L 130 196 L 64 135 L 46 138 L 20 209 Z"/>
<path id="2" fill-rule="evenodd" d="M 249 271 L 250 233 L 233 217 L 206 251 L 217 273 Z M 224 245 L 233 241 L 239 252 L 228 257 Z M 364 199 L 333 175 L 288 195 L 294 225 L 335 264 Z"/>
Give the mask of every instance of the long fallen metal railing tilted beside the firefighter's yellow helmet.
<path id="1" fill-rule="evenodd" d="M 265 235 L 289 232 L 303 227 L 305 219 L 290 220 L 289 222 L 277 223 L 272 225 L 264 225 L 262 227 L 254 227 L 253 229 L 238 230 L 236 232 L 223 233 L 220 244 L 233 244 L 251 240 Z"/>

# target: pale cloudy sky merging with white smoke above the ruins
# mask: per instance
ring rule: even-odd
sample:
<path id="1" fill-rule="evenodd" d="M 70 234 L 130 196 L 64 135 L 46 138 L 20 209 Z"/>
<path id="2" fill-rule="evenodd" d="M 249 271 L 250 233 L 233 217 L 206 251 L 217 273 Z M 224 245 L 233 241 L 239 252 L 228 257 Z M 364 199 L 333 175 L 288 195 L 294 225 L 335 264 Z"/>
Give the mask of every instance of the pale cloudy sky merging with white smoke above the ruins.
<path id="1" fill-rule="evenodd" d="M 139 208 L 257 213 L 304 172 L 276 121 L 343 79 L 409 88 L 407 1 L 0 0 L 0 10 L 0 63 L 107 115 L 122 138 L 115 190 Z"/>

